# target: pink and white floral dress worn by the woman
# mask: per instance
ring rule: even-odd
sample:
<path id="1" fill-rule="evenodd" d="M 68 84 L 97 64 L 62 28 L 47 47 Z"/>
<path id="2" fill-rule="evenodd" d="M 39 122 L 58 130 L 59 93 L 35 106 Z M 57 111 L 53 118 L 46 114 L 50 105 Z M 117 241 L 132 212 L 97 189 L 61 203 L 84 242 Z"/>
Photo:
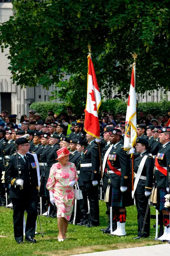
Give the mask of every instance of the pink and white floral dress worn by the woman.
<path id="1" fill-rule="evenodd" d="M 68 221 L 74 205 L 74 187 L 69 187 L 70 181 L 77 181 L 77 169 L 74 163 L 69 163 L 63 167 L 60 162 L 55 163 L 50 169 L 47 181 L 47 189 L 53 191 L 55 204 L 57 207 L 57 218 L 64 217 Z"/>

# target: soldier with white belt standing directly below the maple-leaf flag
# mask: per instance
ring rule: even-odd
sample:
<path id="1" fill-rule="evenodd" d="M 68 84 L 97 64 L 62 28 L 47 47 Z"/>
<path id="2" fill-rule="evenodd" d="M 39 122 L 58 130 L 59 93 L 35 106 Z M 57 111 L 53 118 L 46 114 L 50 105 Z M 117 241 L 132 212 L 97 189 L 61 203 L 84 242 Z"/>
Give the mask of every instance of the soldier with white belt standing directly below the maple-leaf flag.
<path id="1" fill-rule="evenodd" d="M 75 126 L 76 127 L 76 126 Z M 83 181 L 84 189 L 90 203 L 90 223 L 87 227 L 99 226 L 99 199 L 98 184 L 101 179 L 99 174 L 100 160 L 99 147 L 95 137 L 86 134 L 89 145 L 84 150 L 80 161 L 80 180 Z"/>

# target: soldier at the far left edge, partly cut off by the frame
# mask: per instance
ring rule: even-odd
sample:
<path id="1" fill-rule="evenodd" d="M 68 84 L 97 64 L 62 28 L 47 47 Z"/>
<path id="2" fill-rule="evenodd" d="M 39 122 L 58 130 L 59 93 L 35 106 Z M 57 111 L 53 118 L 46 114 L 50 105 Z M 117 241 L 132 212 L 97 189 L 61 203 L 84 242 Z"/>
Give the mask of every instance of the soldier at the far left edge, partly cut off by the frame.
<path id="1" fill-rule="evenodd" d="M 5 147 L 7 141 L 4 139 L 6 133 L 3 129 L 0 129 L 0 170 L 2 175 L 0 175 L 0 179 L 5 174 Z M 0 206 L 6 205 L 6 197 L 5 197 L 5 178 L 0 181 Z"/>

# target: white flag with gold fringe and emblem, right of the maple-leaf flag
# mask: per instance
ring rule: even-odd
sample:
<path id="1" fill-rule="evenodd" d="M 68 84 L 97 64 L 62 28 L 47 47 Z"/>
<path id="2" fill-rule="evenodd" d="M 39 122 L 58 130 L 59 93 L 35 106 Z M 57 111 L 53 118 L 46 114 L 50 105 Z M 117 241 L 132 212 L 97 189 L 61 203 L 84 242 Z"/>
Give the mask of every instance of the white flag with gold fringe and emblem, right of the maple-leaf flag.
<path id="1" fill-rule="evenodd" d="M 136 144 L 137 138 L 135 67 L 136 63 L 134 63 L 132 67 L 131 85 L 129 90 L 128 106 L 126 112 L 124 150 L 129 150 L 130 148 L 133 148 Z"/>

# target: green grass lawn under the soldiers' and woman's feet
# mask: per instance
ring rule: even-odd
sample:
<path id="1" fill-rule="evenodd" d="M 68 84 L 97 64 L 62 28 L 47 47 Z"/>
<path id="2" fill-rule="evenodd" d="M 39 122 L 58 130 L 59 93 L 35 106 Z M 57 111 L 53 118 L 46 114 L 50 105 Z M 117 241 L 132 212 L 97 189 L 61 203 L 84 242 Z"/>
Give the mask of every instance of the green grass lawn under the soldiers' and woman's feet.
<path id="1" fill-rule="evenodd" d="M 12 210 L 0 207 L 0 256 L 66 256 L 72 254 L 89 253 L 94 251 L 130 248 L 144 245 L 154 245 L 161 242 L 153 241 L 155 229 L 151 220 L 150 238 L 134 241 L 137 236 L 137 210 L 135 206 L 127 207 L 126 233 L 124 237 L 104 235 L 100 229 L 107 226 L 105 203 L 100 204 L 100 227 L 80 227 L 69 224 L 67 236 L 69 241 L 58 242 L 57 219 L 40 216 L 44 238 L 36 235 L 36 244 L 18 245 L 14 239 Z M 152 207 L 152 214 L 155 209 Z M 38 223 L 38 232 L 40 227 Z"/>

